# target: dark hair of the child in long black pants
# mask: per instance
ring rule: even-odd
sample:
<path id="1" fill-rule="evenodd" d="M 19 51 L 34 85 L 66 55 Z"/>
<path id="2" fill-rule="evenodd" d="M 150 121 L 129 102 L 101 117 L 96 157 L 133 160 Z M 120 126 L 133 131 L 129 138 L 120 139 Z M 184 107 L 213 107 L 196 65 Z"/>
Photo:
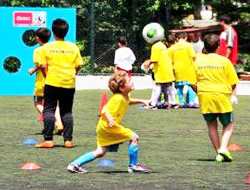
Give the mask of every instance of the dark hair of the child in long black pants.
<path id="1" fill-rule="evenodd" d="M 66 20 L 58 18 L 53 21 L 52 31 L 56 37 L 64 38 L 67 35 L 68 30 L 69 25 Z"/>

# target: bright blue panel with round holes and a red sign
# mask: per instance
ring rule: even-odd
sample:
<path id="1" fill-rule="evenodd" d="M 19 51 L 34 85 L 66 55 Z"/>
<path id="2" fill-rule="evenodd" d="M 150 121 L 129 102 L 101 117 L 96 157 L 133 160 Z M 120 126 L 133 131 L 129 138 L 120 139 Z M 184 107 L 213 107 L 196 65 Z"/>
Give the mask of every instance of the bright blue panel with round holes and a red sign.
<path id="1" fill-rule="evenodd" d="M 0 95 L 33 94 L 35 75 L 27 71 L 34 67 L 33 51 L 39 46 L 34 43 L 34 31 L 40 27 L 51 30 L 57 18 L 69 23 L 65 40 L 75 42 L 75 8 L 0 7 Z"/>

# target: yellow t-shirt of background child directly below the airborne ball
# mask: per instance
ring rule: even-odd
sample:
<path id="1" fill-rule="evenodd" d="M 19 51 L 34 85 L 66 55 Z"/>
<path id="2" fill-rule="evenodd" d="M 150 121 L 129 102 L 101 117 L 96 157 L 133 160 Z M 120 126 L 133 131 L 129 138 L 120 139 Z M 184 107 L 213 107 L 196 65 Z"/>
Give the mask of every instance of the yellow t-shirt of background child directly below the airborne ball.
<path id="1" fill-rule="evenodd" d="M 168 83 L 175 80 L 169 52 L 161 41 L 152 45 L 150 61 L 155 62 L 153 70 L 156 83 Z"/>

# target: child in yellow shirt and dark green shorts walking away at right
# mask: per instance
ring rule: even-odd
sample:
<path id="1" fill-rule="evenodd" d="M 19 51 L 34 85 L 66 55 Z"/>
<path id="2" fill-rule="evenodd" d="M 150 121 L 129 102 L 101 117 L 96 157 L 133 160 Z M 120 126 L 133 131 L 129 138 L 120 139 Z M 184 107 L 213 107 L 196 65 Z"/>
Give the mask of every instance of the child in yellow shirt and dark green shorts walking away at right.
<path id="1" fill-rule="evenodd" d="M 227 147 L 233 133 L 233 107 L 230 96 L 239 79 L 229 59 L 216 54 L 219 37 L 208 34 L 204 47 L 208 54 L 199 54 L 195 61 L 195 77 L 190 81 L 198 93 L 200 110 L 208 126 L 208 135 L 217 153 L 216 161 L 232 161 Z M 223 125 L 221 142 L 217 118 Z"/>

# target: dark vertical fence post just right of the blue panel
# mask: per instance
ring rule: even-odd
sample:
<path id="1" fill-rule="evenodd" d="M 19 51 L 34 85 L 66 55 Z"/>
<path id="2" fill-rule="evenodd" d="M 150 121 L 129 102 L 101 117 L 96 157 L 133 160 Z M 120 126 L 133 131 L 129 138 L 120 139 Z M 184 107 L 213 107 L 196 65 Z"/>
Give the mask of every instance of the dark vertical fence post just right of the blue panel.
<path id="1" fill-rule="evenodd" d="M 91 73 L 94 74 L 95 57 L 95 1 L 90 1 L 90 65 Z"/>

